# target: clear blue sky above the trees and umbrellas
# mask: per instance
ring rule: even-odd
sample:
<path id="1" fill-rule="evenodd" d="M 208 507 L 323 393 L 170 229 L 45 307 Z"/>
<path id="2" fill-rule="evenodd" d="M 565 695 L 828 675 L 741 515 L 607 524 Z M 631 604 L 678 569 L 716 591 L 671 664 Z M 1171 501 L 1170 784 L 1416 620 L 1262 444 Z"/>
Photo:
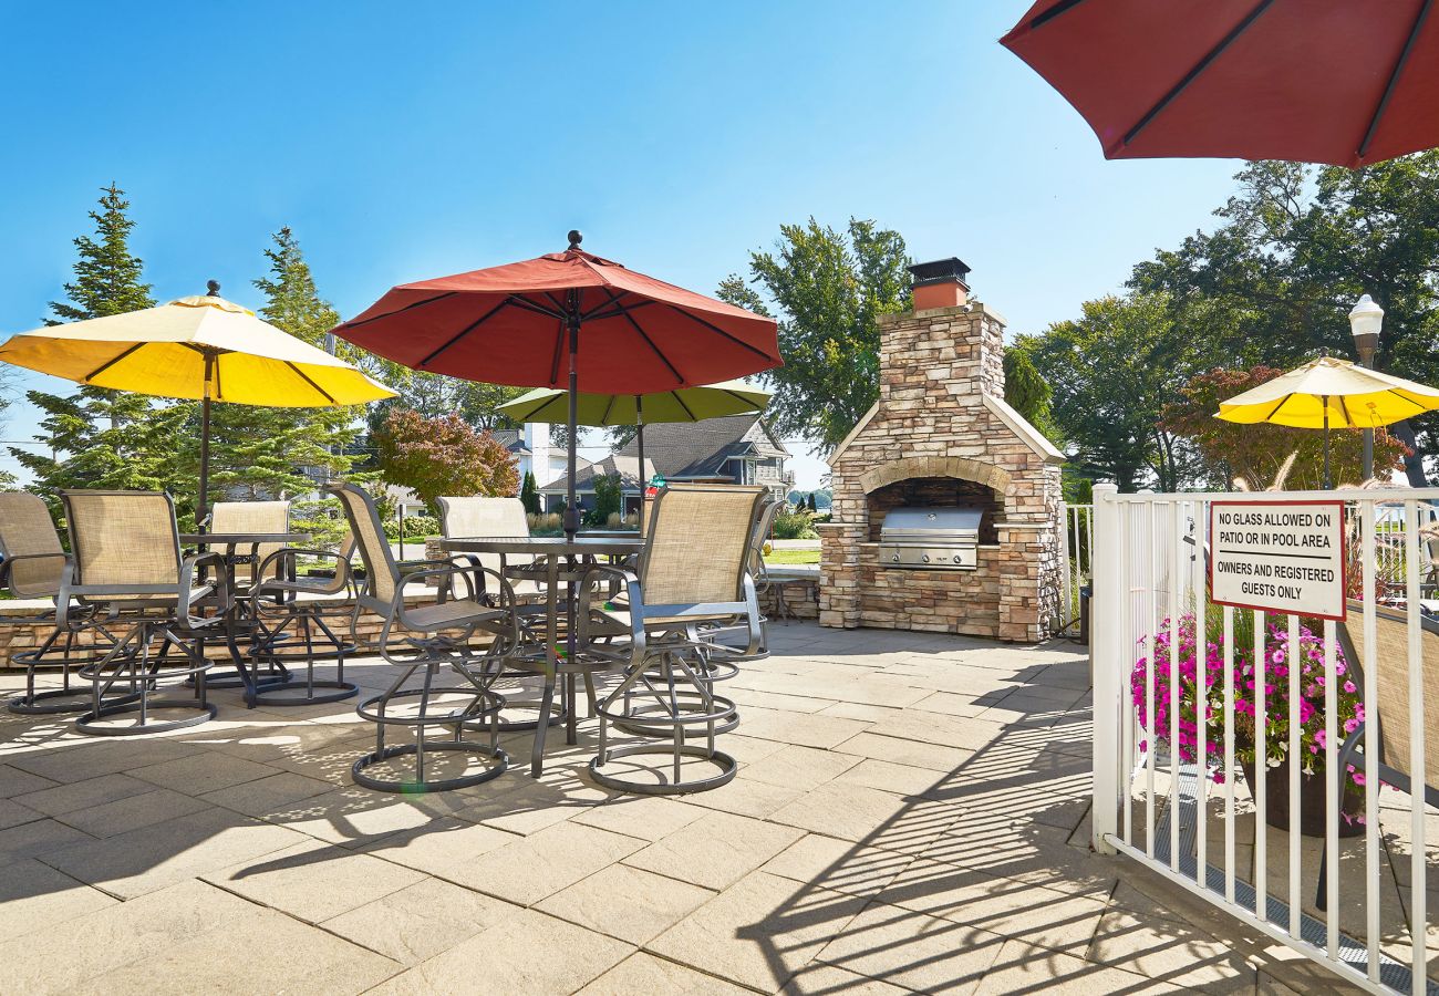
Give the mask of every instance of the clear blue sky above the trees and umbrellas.
<path id="1" fill-rule="evenodd" d="M 781 223 L 855 214 L 918 259 L 961 256 L 1010 331 L 1035 331 L 1209 225 L 1236 164 L 1107 163 L 999 46 L 1026 7 L 14 6 L 0 332 L 62 294 L 111 180 L 161 299 L 216 278 L 252 302 L 282 225 L 348 317 L 393 284 L 563 249 L 570 227 L 708 292 Z M 3 435 L 33 422 L 16 406 Z M 823 465 L 796 469 L 813 486 Z"/>

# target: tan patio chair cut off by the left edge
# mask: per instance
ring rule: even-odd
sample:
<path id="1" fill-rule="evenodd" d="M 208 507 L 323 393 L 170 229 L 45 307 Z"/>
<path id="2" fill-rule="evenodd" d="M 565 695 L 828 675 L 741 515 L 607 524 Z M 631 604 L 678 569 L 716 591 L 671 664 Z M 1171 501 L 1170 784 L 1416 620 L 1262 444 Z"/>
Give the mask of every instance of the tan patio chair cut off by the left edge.
<path id="1" fill-rule="evenodd" d="M 26 491 L 0 492 L 0 584 L 4 584 L 12 599 L 49 599 L 53 606 L 71 600 L 71 558 L 60 545 L 50 510 L 39 495 Z M 89 708 L 89 689 L 72 688 L 71 675 L 75 668 L 94 664 L 96 656 L 94 646 L 78 646 L 76 638 L 81 630 L 91 628 L 96 636 L 114 645 L 114 635 L 92 625 L 94 610 L 72 607 L 65 626 L 58 623 L 58 617 L 56 607 L 32 616 L 0 615 L 0 626 L 32 628 L 52 623 L 50 633 L 37 648 L 10 656 L 12 664 L 24 666 L 24 694 L 7 702 L 12 712 L 53 715 Z M 36 672 L 53 668 L 60 671 L 60 688 L 36 691 Z"/>

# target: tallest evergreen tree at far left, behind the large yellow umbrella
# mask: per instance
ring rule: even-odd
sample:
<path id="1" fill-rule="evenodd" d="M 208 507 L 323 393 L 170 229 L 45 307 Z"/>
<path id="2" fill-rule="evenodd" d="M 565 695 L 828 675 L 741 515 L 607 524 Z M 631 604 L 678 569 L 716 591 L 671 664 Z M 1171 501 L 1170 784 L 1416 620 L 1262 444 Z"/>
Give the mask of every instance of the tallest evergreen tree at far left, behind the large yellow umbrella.
<path id="1" fill-rule="evenodd" d="M 135 222 L 130 202 L 114 183 L 102 189 L 89 213 L 94 236 L 75 239 L 75 279 L 68 301 L 50 302 L 50 325 L 102 318 L 155 304 L 142 279 L 144 263 L 130 250 Z M 49 452 L 12 449 L 35 475 L 35 486 L 59 510 L 62 488 L 164 489 L 176 484 L 174 439 L 193 404 L 160 403 L 144 394 L 81 387 L 72 394 L 32 390 L 26 397 L 43 413 L 36 440 Z"/>

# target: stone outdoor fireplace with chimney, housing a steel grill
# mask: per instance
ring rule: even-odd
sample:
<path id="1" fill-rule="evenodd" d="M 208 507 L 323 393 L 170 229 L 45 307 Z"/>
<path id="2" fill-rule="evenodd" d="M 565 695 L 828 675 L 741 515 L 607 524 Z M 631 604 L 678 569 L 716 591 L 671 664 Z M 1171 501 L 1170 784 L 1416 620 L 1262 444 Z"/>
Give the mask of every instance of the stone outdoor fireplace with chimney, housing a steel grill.
<path id="1" fill-rule="evenodd" d="M 829 458 L 820 623 L 1043 639 L 1059 616 L 1059 465 L 1004 403 L 1004 320 L 968 299 L 968 268 L 911 268 L 914 311 L 879 320 L 879 400 Z M 905 505 L 983 511 L 974 570 L 879 563 L 884 517 Z"/>

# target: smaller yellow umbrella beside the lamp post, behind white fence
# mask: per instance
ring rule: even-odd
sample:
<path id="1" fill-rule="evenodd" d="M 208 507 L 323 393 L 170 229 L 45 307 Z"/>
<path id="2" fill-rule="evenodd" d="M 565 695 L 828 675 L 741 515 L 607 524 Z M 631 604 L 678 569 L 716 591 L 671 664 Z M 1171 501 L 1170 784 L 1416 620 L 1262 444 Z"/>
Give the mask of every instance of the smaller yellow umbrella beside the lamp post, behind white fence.
<path id="1" fill-rule="evenodd" d="M 1330 486 L 1330 427 L 1376 429 L 1439 409 L 1439 389 L 1320 357 L 1222 402 L 1217 419 L 1324 429 L 1324 486 Z"/>

